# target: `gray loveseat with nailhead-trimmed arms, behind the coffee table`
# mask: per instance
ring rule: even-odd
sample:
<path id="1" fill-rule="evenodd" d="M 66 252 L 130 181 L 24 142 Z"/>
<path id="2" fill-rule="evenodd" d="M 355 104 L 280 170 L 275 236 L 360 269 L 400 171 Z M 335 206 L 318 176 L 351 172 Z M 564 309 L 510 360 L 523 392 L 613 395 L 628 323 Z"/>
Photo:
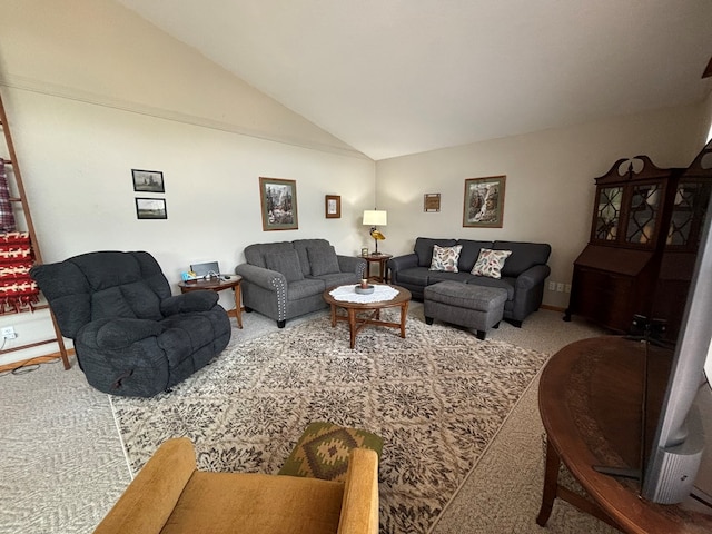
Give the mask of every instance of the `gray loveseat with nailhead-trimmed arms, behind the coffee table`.
<path id="1" fill-rule="evenodd" d="M 255 244 L 245 248 L 245 264 L 235 268 L 243 277 L 243 304 L 284 328 L 287 319 L 327 305 L 327 287 L 357 284 L 366 260 L 339 256 L 326 239 Z"/>

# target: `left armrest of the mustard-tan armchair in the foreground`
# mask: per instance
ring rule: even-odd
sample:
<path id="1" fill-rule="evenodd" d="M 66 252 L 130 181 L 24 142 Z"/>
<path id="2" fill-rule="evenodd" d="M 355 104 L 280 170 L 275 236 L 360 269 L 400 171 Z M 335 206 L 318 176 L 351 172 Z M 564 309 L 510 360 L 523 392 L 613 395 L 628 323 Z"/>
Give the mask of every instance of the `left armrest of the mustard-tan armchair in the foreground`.
<path id="1" fill-rule="evenodd" d="M 187 437 L 166 441 L 146 463 L 95 534 L 159 534 L 196 471 Z"/>

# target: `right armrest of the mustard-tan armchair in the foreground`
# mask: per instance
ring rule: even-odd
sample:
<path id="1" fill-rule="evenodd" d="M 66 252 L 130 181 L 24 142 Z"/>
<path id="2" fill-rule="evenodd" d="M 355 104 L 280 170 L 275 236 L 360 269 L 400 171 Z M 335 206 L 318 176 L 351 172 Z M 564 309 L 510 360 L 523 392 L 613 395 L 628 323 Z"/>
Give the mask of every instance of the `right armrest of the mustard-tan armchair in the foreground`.
<path id="1" fill-rule="evenodd" d="M 378 534 L 378 454 L 355 448 L 348 461 L 338 534 Z"/>

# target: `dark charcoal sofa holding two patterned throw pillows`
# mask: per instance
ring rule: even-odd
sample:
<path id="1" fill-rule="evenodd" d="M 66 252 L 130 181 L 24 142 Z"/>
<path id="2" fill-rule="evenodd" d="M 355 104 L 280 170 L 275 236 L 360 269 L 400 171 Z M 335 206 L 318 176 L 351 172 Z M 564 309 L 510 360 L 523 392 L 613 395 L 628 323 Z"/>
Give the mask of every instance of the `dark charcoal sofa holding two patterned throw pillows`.
<path id="1" fill-rule="evenodd" d="M 457 263 L 458 273 L 429 270 L 433 245 L 452 247 L 462 245 Z M 502 268 L 502 278 L 488 278 L 471 274 L 479 250 L 512 250 Z M 504 304 L 504 318 L 517 326 L 538 309 L 544 297 L 544 280 L 551 273 L 546 265 L 552 247 L 544 243 L 521 241 L 477 241 L 469 239 L 432 239 L 418 237 L 414 251 L 388 260 L 390 281 L 405 287 L 413 298 L 423 299 L 423 289 L 444 280 L 461 281 L 486 287 L 501 287 L 507 290 Z"/>

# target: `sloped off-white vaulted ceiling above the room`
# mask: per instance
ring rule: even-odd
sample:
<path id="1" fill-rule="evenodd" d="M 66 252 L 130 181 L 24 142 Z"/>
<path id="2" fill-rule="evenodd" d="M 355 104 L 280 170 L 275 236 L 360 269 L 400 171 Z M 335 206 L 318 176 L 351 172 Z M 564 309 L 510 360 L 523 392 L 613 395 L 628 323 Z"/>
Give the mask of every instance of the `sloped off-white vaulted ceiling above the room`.
<path id="1" fill-rule="evenodd" d="M 710 0 L 118 0 L 378 160 L 702 101 Z"/>

